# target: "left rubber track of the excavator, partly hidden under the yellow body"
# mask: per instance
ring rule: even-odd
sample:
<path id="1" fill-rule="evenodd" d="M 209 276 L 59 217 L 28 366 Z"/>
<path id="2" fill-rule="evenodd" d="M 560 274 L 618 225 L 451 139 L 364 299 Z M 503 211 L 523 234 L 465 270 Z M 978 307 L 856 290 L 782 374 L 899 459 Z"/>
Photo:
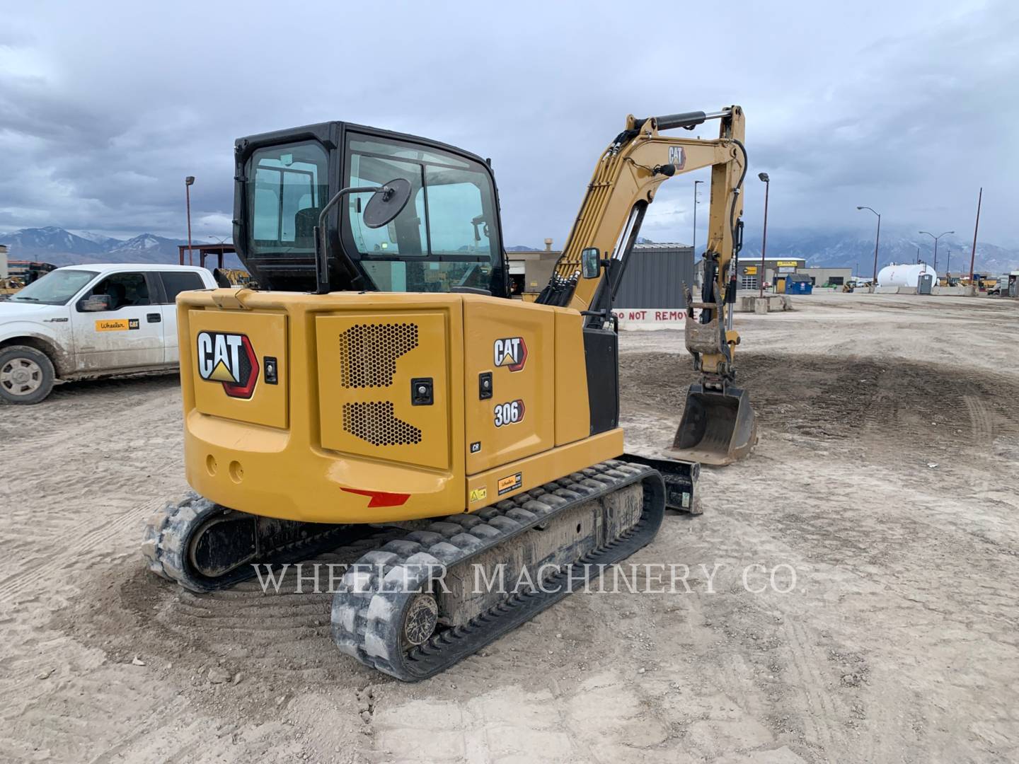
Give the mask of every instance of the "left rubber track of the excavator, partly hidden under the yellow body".
<path id="1" fill-rule="evenodd" d="M 193 592 L 213 592 L 227 589 L 255 575 L 251 563 L 244 563 L 233 570 L 215 579 L 209 579 L 193 571 L 185 550 L 192 534 L 205 522 L 220 512 L 232 512 L 220 504 L 199 496 L 194 491 L 178 503 L 167 503 L 160 511 L 149 517 L 145 526 L 142 554 L 149 569 L 157 576 L 175 581 Z M 297 543 L 289 543 L 272 550 L 264 550 L 262 557 L 254 562 L 282 563 L 307 559 L 320 552 L 329 551 L 348 541 L 365 535 L 351 526 L 328 526 L 308 524 L 316 533 L 309 534 Z M 376 529 L 363 527 L 365 532 Z M 352 531 L 354 533 L 352 533 Z"/>

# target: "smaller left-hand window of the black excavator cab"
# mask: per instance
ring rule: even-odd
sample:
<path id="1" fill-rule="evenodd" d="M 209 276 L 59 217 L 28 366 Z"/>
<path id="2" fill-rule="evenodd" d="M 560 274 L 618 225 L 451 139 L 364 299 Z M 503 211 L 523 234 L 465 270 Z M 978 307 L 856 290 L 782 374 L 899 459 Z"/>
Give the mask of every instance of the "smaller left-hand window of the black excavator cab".
<path id="1" fill-rule="evenodd" d="M 311 255 L 328 199 L 328 156 L 314 142 L 260 149 L 248 165 L 250 250 L 255 255 Z"/>

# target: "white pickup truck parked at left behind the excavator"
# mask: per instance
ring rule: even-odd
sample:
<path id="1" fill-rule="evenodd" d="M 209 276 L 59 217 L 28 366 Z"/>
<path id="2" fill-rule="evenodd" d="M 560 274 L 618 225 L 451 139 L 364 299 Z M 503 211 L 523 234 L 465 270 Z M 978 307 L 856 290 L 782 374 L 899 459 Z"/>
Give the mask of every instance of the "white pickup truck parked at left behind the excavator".
<path id="1" fill-rule="evenodd" d="M 74 265 L 0 302 L 0 400 L 38 403 L 57 380 L 173 369 L 178 292 L 212 289 L 205 268 Z"/>

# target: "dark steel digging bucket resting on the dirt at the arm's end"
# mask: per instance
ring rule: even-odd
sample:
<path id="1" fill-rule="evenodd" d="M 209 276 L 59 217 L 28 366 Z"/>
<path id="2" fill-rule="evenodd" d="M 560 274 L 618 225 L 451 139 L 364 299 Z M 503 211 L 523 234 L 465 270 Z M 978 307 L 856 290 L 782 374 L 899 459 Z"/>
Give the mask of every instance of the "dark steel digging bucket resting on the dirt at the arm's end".
<path id="1" fill-rule="evenodd" d="M 669 456 L 703 465 L 731 465 L 750 453 L 757 442 L 757 421 L 746 390 L 725 392 L 690 385 L 683 419 Z"/>

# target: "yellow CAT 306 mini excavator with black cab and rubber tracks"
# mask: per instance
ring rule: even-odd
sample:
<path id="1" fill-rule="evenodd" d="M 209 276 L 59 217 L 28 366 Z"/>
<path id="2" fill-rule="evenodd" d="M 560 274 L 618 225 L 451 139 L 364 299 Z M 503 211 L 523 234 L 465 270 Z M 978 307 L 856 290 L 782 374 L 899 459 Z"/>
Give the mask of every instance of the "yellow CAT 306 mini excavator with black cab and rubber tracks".
<path id="1" fill-rule="evenodd" d="M 707 119 L 717 140 L 662 134 Z M 333 641 L 416 680 L 696 511 L 698 463 L 624 452 L 612 296 L 658 185 L 712 167 L 676 447 L 732 450 L 743 132 L 737 106 L 628 117 L 534 303 L 509 298 L 487 160 L 344 122 L 238 140 L 233 240 L 262 288 L 178 295 L 194 492 L 150 519 L 149 567 L 206 592 L 358 548 L 321 581 Z"/>

